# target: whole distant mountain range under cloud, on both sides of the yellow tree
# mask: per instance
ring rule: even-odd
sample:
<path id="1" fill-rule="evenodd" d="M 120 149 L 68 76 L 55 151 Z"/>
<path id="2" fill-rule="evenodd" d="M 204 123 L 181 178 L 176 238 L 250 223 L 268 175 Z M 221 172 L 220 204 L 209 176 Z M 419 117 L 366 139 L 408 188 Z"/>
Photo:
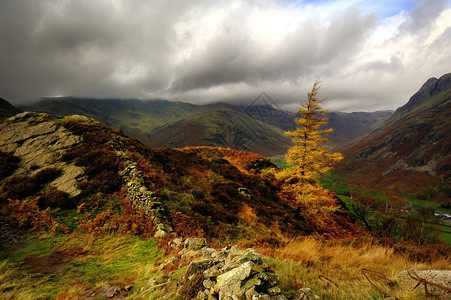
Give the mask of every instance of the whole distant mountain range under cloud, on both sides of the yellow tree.
<path id="1" fill-rule="evenodd" d="M 284 154 L 291 142 L 284 134 L 295 128 L 295 113 L 273 103 L 250 106 L 194 105 L 167 100 L 44 98 L 24 110 L 57 115 L 85 115 L 154 147 L 220 146 Z M 330 147 L 336 148 L 371 132 L 391 112 L 330 113 L 334 128 Z"/>

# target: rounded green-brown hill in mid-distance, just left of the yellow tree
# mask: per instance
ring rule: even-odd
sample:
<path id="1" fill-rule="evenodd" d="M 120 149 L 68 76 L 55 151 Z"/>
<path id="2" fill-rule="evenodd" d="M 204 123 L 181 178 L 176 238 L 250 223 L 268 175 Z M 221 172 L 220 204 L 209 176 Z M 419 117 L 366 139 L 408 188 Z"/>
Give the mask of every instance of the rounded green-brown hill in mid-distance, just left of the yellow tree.
<path id="1" fill-rule="evenodd" d="M 155 147 L 220 146 L 260 153 L 285 153 L 290 139 L 271 125 L 228 108 L 193 114 L 153 131 L 148 143 Z"/>

